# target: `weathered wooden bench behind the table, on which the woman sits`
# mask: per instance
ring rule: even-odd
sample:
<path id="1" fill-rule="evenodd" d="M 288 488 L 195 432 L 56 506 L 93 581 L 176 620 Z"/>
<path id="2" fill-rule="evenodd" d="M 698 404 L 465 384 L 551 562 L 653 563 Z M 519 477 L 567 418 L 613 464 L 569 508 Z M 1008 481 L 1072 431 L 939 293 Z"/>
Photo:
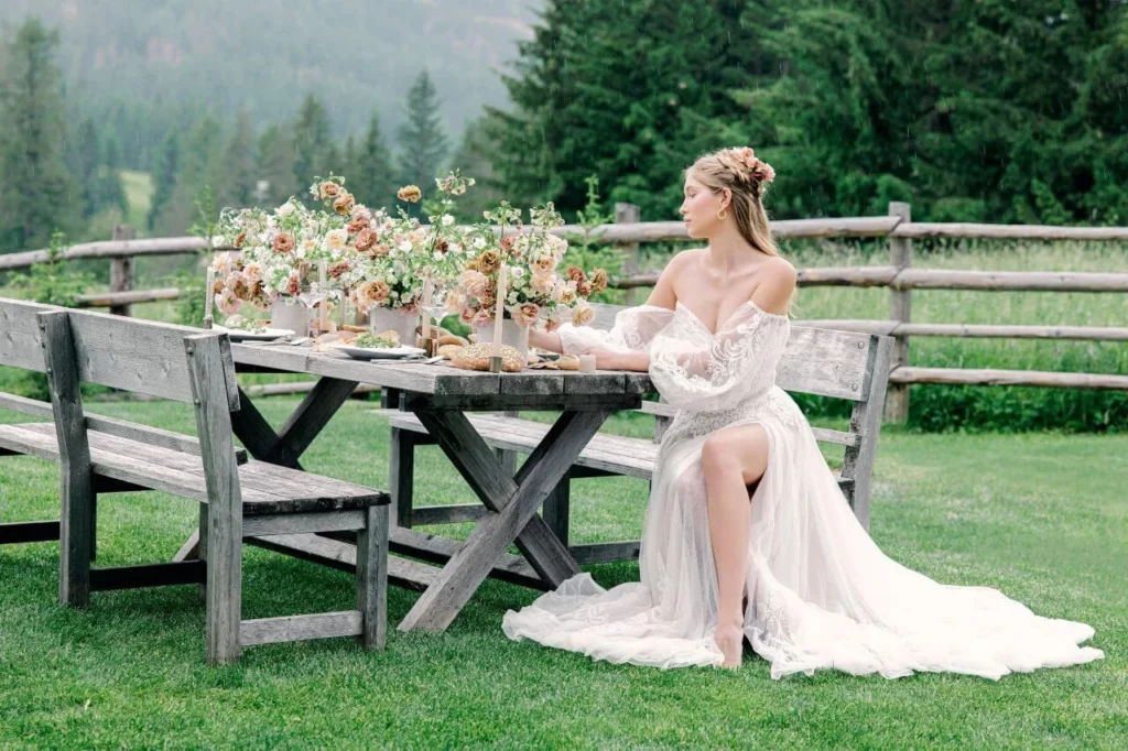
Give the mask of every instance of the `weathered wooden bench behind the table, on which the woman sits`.
<path id="1" fill-rule="evenodd" d="M 597 306 L 593 326 L 609 329 L 618 306 Z M 892 339 L 887 336 L 793 326 L 787 348 L 779 362 L 776 383 L 790 392 L 812 394 L 854 403 L 849 430 L 812 428 L 820 442 L 844 448 L 838 486 L 858 521 L 869 529 L 870 483 L 881 431 L 881 414 L 889 377 Z M 655 416 L 650 440 L 607 433 L 597 434 L 573 463 L 565 479 L 546 501 L 541 514 L 563 542 L 569 545 L 570 480 L 585 477 L 627 476 L 650 480 L 659 443 L 676 410 L 659 401 L 645 401 L 642 409 Z M 407 413 L 387 412 L 391 427 L 390 481 L 395 524 L 413 527 L 446 524 L 479 518 L 479 505 L 413 506 L 415 447 L 433 443 L 418 419 Z M 544 438 L 547 425 L 515 415 L 494 414 L 469 417 L 486 442 L 501 452 L 528 453 Z M 598 545 L 569 545 L 579 563 L 603 563 L 638 557 L 638 540 Z"/>

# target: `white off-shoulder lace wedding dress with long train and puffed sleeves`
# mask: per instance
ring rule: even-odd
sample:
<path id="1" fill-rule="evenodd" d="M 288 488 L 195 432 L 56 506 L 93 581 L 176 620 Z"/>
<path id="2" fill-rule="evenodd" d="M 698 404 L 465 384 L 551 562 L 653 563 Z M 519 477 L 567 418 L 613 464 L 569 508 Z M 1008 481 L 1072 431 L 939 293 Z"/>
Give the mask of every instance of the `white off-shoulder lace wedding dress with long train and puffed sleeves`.
<path id="1" fill-rule="evenodd" d="M 1079 622 L 1036 616 L 986 586 L 952 586 L 888 558 L 855 519 L 795 403 L 775 386 L 791 324 L 744 303 L 714 335 L 684 306 L 622 311 L 611 332 L 564 326 L 569 352 L 649 351 L 678 409 L 662 440 L 638 562 L 605 590 L 582 573 L 505 613 L 512 639 L 658 668 L 720 665 L 717 584 L 700 452 L 758 423 L 768 467 L 751 497 L 744 634 L 772 677 L 820 669 L 885 678 L 914 671 L 998 679 L 1104 656 Z"/>

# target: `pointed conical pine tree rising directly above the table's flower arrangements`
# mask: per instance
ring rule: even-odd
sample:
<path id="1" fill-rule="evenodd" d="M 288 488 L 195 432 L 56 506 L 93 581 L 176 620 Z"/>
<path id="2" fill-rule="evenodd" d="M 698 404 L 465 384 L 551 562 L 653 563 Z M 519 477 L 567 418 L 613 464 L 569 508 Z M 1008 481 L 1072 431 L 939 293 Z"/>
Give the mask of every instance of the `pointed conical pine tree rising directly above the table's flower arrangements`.
<path id="1" fill-rule="evenodd" d="M 439 97 L 431 74 L 422 71 L 407 92 L 406 120 L 396 132 L 400 185 L 417 185 L 429 195 L 442 169 L 449 145 L 439 115 Z M 420 204 L 408 204 L 418 210 Z"/>

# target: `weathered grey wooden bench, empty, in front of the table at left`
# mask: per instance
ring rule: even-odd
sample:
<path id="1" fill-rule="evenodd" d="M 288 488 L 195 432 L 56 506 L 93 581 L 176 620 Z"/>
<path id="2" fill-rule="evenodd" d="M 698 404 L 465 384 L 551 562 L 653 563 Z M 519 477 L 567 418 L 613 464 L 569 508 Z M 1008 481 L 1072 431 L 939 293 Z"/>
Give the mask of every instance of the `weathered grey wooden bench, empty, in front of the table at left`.
<path id="1" fill-rule="evenodd" d="M 0 406 L 52 423 L 0 425 L 0 452 L 61 465 L 60 601 L 89 603 L 91 590 L 203 584 L 206 659 L 226 663 L 241 647 L 359 636 L 382 648 L 387 628 L 388 494 L 261 461 L 239 463 L 231 412 L 239 407 L 224 335 L 52 309 L 0 299 L 0 364 L 46 372 L 51 410 L 2 395 Z M 192 404 L 199 439 L 88 416 L 81 382 Z M 91 568 L 99 493 L 164 491 L 200 506 L 197 559 Z M 25 524 L 27 539 L 53 539 L 52 522 Z M 35 525 L 37 524 L 37 527 Z M 8 540 L 18 538 L 8 525 Z M 241 619 L 243 540 L 355 531 L 356 609 Z"/>

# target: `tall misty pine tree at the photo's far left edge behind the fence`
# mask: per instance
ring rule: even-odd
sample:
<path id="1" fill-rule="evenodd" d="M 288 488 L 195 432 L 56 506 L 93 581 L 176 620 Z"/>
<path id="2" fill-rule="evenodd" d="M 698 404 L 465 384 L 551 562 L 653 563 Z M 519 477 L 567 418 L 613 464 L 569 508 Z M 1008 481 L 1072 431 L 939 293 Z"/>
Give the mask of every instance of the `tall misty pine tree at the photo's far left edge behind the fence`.
<path id="1" fill-rule="evenodd" d="M 59 34 L 32 18 L 2 50 L 0 248 L 45 246 L 79 213 L 63 152 L 63 101 L 54 62 Z"/>

